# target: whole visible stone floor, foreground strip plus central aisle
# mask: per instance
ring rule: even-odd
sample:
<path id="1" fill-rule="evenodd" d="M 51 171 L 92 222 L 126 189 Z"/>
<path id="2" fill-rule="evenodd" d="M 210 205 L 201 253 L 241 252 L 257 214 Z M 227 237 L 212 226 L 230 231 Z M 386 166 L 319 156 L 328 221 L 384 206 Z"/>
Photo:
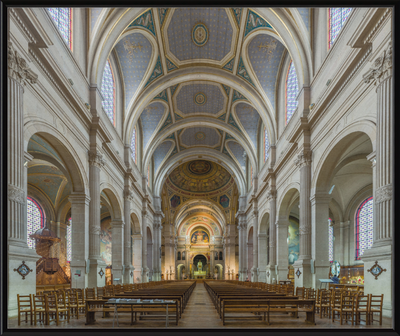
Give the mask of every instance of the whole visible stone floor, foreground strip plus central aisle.
<path id="1" fill-rule="evenodd" d="M 165 328 L 165 319 L 137 320 L 136 324 L 131 326 L 130 315 L 120 314 L 118 317 L 119 327 L 116 326 L 115 321 L 115 328 Z M 304 322 L 304 318 L 303 314 L 299 314 L 299 318 L 274 315 L 270 317 L 271 324 L 269 326 L 265 322 L 255 319 L 227 320 L 223 326 L 204 285 L 197 283 L 178 325 L 176 326 L 174 319 L 170 317 L 168 328 L 392 328 L 391 318 L 388 317 L 382 318 L 382 325 L 379 325 L 378 322 L 373 322 L 371 325 L 365 325 L 364 322 L 361 322 L 360 325 L 353 326 L 349 322 L 343 322 L 343 325 L 336 321 L 332 323 L 331 319 L 327 317 L 319 318 L 319 315 L 315 315 L 316 325 L 310 325 Z M 112 316 L 101 318 L 100 314 L 98 314 L 98 317 L 96 314 L 96 321 L 93 324 L 84 325 L 84 323 L 85 317 L 82 316 L 79 319 L 70 319 L 69 323 L 62 322 L 58 326 L 55 325 L 55 322 L 50 322 L 50 325 L 38 323 L 36 326 L 30 325 L 29 322 L 21 322 L 21 325 L 18 326 L 17 318 L 14 317 L 8 319 L 8 328 L 111 328 Z"/>

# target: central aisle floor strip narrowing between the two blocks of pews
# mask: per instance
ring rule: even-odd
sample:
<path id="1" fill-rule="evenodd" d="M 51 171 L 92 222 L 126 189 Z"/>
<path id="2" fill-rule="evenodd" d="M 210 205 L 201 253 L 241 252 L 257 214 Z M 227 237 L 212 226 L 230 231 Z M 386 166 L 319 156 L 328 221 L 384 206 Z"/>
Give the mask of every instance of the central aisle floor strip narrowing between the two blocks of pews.
<path id="1" fill-rule="evenodd" d="M 171 323 L 172 324 L 172 323 Z M 169 324 L 169 328 L 222 328 L 212 301 L 205 290 L 204 283 L 197 282 L 179 320 L 178 326 Z"/>

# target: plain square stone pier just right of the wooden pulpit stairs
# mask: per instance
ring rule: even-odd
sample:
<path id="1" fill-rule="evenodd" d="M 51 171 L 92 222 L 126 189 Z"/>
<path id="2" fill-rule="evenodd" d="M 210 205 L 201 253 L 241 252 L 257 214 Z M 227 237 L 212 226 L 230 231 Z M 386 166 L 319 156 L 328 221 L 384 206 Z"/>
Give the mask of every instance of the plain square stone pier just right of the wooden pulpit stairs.
<path id="1" fill-rule="evenodd" d="M 89 206 L 90 197 L 84 194 L 72 194 L 68 197 L 71 203 L 71 275 L 80 270 L 77 280 L 72 277 L 72 288 L 86 288 L 88 275 L 85 273 L 85 260 L 89 256 Z M 104 269 L 103 269 L 104 270 Z M 105 285 L 105 277 L 99 286 Z M 93 287 L 92 287 L 93 288 Z"/>

